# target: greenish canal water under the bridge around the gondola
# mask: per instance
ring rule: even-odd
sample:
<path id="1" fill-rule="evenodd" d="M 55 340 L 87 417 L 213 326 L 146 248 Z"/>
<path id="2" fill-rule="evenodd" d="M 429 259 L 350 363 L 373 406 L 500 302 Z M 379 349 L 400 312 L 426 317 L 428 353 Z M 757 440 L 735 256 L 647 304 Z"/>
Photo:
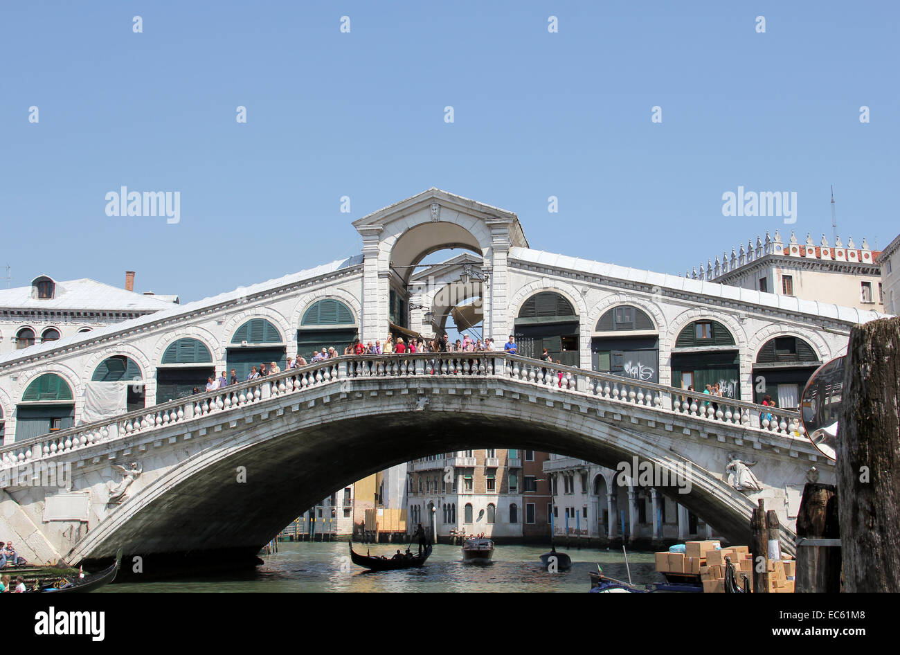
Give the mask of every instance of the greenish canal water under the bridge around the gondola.
<path id="1" fill-rule="evenodd" d="M 354 544 L 356 552 L 388 557 L 401 544 Z M 417 547 L 418 548 L 418 547 Z M 585 592 L 588 572 L 598 563 L 611 578 L 628 579 L 621 551 L 562 548 L 572 558 L 572 569 L 542 570 L 540 555 L 547 546 L 499 545 L 491 564 L 464 564 L 460 546 L 437 544 L 421 569 L 367 572 L 350 561 L 347 542 L 278 544 L 278 552 L 263 559 L 257 570 L 214 578 L 182 578 L 161 582 L 128 582 L 99 589 L 106 593 L 140 592 L 376 592 L 376 591 L 543 591 Z M 636 584 L 662 578 L 655 572 L 652 552 L 629 552 L 631 577 Z M 124 566 L 124 562 L 122 564 Z"/>

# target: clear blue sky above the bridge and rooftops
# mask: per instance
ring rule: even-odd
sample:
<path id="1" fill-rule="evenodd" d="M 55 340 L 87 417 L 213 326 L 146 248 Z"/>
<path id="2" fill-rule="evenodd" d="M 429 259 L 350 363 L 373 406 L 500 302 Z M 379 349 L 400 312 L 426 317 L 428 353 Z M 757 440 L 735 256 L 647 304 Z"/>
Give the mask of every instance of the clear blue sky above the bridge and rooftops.
<path id="1" fill-rule="evenodd" d="M 134 270 L 137 290 L 191 301 L 357 254 L 352 220 L 431 186 L 516 211 L 532 247 L 664 273 L 779 226 L 830 237 L 830 184 L 844 241 L 885 246 L 898 16 L 884 1 L 4 2 L 0 265 L 14 286 Z M 179 191 L 181 222 L 107 217 L 123 184 Z M 738 185 L 797 192 L 797 223 L 724 217 Z"/>

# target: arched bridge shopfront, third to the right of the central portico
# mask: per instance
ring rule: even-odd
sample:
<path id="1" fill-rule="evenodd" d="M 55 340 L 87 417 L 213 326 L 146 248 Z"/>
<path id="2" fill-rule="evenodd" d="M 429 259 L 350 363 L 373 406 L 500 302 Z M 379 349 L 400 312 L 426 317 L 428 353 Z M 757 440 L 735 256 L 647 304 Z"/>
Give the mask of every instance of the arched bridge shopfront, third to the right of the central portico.
<path id="1" fill-rule="evenodd" d="M 719 383 L 725 398 L 741 399 L 741 366 L 734 335 L 716 320 L 695 320 L 681 330 L 671 355 L 672 386 L 703 393 Z"/>

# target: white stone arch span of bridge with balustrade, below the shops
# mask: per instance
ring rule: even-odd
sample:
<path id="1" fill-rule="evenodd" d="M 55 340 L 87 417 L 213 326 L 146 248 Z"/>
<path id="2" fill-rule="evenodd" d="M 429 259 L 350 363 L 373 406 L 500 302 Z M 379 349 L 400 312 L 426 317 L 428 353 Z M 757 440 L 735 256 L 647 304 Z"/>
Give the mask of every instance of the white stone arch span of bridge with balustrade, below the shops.
<path id="1" fill-rule="evenodd" d="M 680 473 L 676 489 L 660 489 L 746 542 L 756 498 L 824 466 L 796 413 L 761 421 L 741 400 L 713 411 L 662 385 L 537 364 L 501 353 L 341 357 L 7 445 L 9 538 L 44 561 L 100 561 L 122 547 L 157 566 L 178 555 L 237 565 L 342 482 L 490 441 Z M 735 460 L 755 463 L 760 489 L 735 489 Z M 67 489 L 40 486 L 54 482 L 48 471 Z M 792 524 L 776 508 L 789 550 Z"/>

